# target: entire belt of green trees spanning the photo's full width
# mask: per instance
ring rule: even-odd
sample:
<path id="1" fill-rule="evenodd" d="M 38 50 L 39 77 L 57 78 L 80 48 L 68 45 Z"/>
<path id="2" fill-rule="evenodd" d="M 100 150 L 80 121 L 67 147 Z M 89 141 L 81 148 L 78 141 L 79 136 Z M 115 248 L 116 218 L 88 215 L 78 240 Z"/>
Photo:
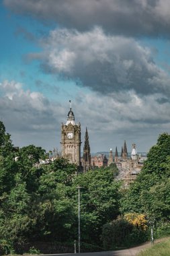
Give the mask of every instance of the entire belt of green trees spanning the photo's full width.
<path id="1" fill-rule="evenodd" d="M 115 241 L 118 245 L 132 241 L 132 234 L 135 243 L 141 242 L 146 240 L 145 230 L 134 230 L 133 222 L 139 223 L 145 216 L 157 221 L 170 220 L 167 133 L 159 136 L 136 181 L 126 190 L 115 179 L 118 174 L 115 164 L 82 174 L 75 164 L 60 156 L 54 162 L 42 164 L 40 160 L 45 158 L 45 150 L 34 145 L 14 148 L 0 122 L 0 251 L 3 253 L 12 253 L 14 249 L 23 253 L 24 245 L 33 241 L 73 244 L 78 230 L 78 186 L 81 186 L 83 242 L 101 245 L 102 227 L 103 244 L 108 248 Z M 133 216 L 132 222 L 126 216 Z M 116 228 L 125 240 L 117 239 Z M 111 234 L 114 240 L 108 241 Z"/>

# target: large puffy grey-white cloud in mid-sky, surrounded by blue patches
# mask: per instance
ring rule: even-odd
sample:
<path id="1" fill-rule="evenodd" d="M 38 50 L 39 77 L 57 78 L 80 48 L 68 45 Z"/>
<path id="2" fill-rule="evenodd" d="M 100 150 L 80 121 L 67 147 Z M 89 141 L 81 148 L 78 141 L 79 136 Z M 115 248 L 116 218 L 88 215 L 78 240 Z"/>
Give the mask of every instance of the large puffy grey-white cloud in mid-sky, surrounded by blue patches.
<path id="1" fill-rule="evenodd" d="M 102 94 L 134 90 L 137 94 L 170 93 L 170 77 L 155 64 L 150 49 L 132 38 L 108 36 L 101 28 L 89 32 L 52 30 L 40 41 L 38 59 L 44 72 L 73 79 Z"/>

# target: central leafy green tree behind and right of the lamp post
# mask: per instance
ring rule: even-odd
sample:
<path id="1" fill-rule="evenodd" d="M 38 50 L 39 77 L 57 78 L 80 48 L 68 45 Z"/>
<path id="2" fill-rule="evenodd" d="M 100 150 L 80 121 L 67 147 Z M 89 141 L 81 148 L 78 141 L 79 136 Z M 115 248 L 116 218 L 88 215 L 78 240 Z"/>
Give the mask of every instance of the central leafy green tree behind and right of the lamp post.
<path id="1" fill-rule="evenodd" d="M 81 189 L 81 230 L 82 239 L 88 243 L 99 241 L 101 227 L 119 214 L 118 189 L 120 183 L 114 181 L 114 174 L 110 169 L 97 170 L 79 174 L 73 189 L 77 197 L 77 185 Z M 75 198 L 76 200 L 77 198 Z"/>

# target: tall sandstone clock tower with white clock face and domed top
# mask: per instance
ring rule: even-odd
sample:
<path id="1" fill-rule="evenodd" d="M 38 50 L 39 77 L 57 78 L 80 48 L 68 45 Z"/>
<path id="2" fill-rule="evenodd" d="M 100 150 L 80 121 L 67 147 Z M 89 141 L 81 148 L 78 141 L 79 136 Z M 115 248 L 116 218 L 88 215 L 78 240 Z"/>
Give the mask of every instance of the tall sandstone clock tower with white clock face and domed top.
<path id="1" fill-rule="evenodd" d="M 71 102 L 71 101 L 70 101 Z M 70 108 L 67 123 L 61 125 L 62 157 L 81 166 L 81 124 L 76 125 L 75 115 Z"/>

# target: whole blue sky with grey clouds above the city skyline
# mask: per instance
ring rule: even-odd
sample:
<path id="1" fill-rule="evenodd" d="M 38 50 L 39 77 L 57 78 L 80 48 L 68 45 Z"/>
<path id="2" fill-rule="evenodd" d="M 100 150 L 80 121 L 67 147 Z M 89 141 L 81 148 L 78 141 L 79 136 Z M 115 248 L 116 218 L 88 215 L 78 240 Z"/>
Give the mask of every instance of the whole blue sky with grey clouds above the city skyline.
<path id="1" fill-rule="evenodd" d="M 170 130 L 169 0 L 1 0 L 0 118 L 60 150 L 69 100 L 91 152 L 148 152 Z"/>

